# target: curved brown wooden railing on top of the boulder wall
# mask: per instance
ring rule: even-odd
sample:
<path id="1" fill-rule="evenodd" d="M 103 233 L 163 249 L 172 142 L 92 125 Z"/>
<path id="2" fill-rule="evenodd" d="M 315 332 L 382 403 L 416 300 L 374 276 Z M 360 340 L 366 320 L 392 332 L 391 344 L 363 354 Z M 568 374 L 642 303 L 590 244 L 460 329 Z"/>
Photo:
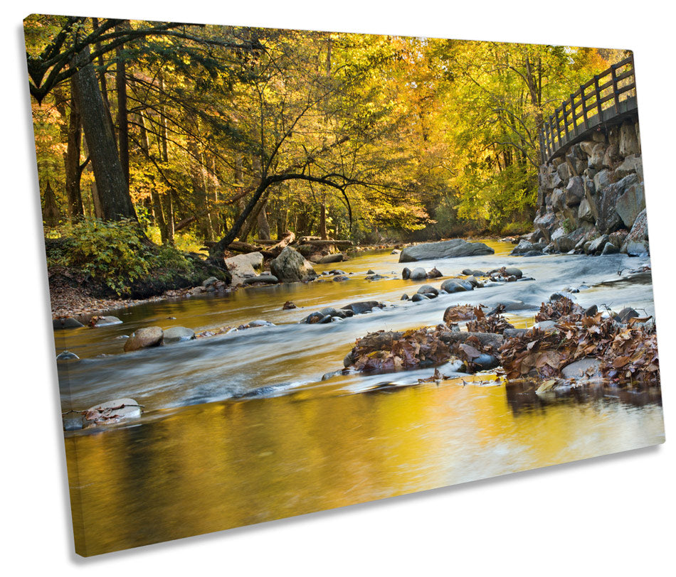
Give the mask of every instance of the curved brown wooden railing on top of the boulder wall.
<path id="1" fill-rule="evenodd" d="M 542 163 L 588 139 L 600 126 L 607 129 L 637 116 L 632 55 L 581 85 L 554 111 L 539 134 Z"/>

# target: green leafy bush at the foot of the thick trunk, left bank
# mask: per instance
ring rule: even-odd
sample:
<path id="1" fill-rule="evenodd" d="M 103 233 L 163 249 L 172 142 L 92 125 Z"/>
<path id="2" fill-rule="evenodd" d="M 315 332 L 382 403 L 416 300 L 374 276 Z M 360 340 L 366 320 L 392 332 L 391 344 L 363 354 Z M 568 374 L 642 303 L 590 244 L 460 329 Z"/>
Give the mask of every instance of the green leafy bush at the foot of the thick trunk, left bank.
<path id="1" fill-rule="evenodd" d="M 129 220 L 83 219 L 65 228 L 62 238 L 60 248 L 48 254 L 48 264 L 80 271 L 120 296 L 151 273 L 161 278 L 194 274 L 194 264 L 184 254 L 149 244 L 139 225 Z"/>

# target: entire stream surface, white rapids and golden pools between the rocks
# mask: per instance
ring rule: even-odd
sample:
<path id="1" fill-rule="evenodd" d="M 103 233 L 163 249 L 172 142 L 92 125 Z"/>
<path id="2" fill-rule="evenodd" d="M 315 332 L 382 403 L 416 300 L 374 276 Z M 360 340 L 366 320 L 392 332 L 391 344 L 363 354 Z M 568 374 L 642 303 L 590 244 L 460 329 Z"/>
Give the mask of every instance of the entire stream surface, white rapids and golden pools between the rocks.
<path id="1" fill-rule="evenodd" d="M 462 269 L 518 266 L 518 281 L 400 301 L 421 284 L 403 281 L 398 256 L 359 254 L 339 268 L 349 281 L 245 288 L 226 296 L 163 301 L 118 311 L 124 322 L 59 330 L 62 410 L 132 397 L 138 421 L 65 433 L 76 548 L 92 555 L 379 499 L 664 440 L 659 397 L 578 394 L 530 399 L 490 379 L 417 384 L 433 370 L 390 375 L 322 375 L 342 368 L 369 331 L 435 325 L 455 303 L 512 303 L 508 318 L 529 326 L 554 291 L 582 286 L 583 306 L 652 315 L 649 264 L 625 255 L 494 255 L 408 264 L 445 276 Z M 413 266 L 411 266 L 413 265 Z M 398 278 L 366 281 L 366 271 Z M 587 287 L 587 288 L 585 288 Z M 298 308 L 282 311 L 282 303 Z M 297 321 L 354 301 L 393 306 L 328 325 Z M 174 317 L 174 318 L 171 318 Z M 122 352 L 142 326 L 194 330 L 263 319 L 275 327 Z M 389 387 L 379 388 L 384 383 Z M 415 386 L 410 386 L 415 385 Z"/>

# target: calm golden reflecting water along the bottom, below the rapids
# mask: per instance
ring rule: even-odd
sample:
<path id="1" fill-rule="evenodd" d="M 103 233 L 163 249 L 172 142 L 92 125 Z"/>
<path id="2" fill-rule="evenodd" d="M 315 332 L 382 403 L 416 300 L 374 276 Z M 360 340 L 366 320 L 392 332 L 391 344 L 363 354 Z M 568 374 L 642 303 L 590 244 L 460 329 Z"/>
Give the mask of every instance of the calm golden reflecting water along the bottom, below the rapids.
<path id="1" fill-rule="evenodd" d="M 663 438 L 657 405 L 563 402 L 515 414 L 503 386 L 428 384 L 191 406 L 70 436 L 66 447 L 77 549 L 92 555 Z"/>

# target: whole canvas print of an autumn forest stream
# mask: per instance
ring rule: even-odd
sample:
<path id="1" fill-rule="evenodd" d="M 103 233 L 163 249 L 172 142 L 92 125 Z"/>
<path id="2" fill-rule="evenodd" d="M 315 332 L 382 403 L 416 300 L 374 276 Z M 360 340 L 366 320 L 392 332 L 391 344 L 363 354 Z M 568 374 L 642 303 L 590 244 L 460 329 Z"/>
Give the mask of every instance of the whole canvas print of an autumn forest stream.
<path id="1" fill-rule="evenodd" d="M 24 30 L 78 554 L 664 441 L 630 50 Z"/>

